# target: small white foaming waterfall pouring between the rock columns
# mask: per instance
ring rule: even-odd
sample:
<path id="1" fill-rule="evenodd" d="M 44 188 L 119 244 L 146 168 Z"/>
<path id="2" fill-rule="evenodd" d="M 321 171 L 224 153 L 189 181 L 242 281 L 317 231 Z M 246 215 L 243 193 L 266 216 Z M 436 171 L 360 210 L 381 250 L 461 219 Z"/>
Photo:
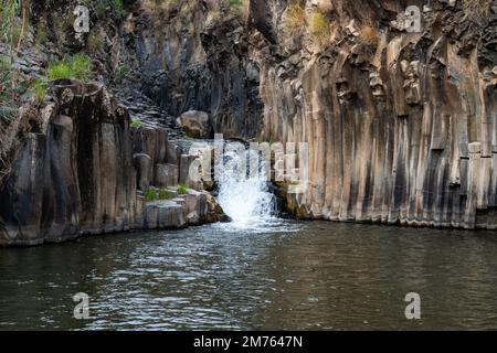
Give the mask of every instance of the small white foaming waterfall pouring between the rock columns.
<path id="1" fill-rule="evenodd" d="M 225 152 L 216 165 L 218 202 L 233 224 L 244 226 L 273 218 L 276 203 L 268 192 L 265 163 L 258 151 L 245 150 Z"/>

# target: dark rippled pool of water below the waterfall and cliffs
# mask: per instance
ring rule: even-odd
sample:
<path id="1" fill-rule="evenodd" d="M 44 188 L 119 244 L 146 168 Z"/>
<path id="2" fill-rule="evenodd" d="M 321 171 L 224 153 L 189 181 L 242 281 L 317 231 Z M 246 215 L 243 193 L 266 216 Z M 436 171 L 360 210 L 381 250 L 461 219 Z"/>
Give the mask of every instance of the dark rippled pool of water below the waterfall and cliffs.
<path id="1" fill-rule="evenodd" d="M 274 221 L 0 249 L 0 329 L 497 329 L 496 235 Z"/>

